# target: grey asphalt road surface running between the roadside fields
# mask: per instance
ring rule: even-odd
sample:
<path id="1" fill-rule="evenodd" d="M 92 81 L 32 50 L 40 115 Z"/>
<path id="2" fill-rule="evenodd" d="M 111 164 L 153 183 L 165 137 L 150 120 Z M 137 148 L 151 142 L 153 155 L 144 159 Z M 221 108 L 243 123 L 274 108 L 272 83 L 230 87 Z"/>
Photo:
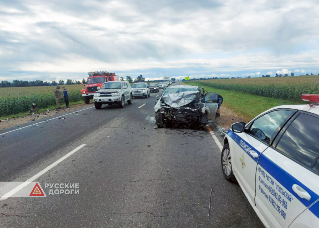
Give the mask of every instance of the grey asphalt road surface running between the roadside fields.
<path id="1" fill-rule="evenodd" d="M 154 129 L 159 94 L 0 131 L 1 181 L 26 181 L 86 144 L 35 180 L 79 183 L 79 195 L 1 200 L 0 227 L 263 227 L 224 179 L 209 132 Z"/>

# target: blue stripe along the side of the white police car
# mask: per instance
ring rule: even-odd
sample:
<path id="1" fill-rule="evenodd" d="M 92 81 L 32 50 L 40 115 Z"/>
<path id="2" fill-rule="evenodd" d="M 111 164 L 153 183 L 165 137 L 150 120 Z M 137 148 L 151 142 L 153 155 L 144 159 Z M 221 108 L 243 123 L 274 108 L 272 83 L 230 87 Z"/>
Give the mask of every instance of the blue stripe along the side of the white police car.
<path id="1" fill-rule="evenodd" d="M 228 130 L 227 135 L 230 136 L 235 143 L 237 143 L 242 150 L 247 149 L 247 146 L 251 148 L 251 150 L 256 151 L 259 155 L 260 152 L 257 151 L 254 147 L 252 147 L 249 143 L 247 143 L 245 140 L 243 140 L 239 135 L 234 133 L 232 130 Z M 246 145 L 243 148 L 241 145 L 242 142 L 244 142 Z M 245 150 L 244 150 L 245 151 Z M 315 194 L 313 191 L 311 191 L 309 188 L 307 188 L 304 184 L 302 184 L 299 180 L 294 178 L 292 175 L 287 173 L 285 170 L 280 168 L 277 164 L 275 164 L 273 161 L 271 161 L 266 156 L 259 156 L 258 158 L 252 157 L 249 153 L 247 153 L 249 157 L 251 157 L 254 161 L 258 161 L 258 164 L 261 165 L 273 178 L 275 178 L 278 183 L 280 183 L 282 186 L 284 186 L 294 197 L 296 197 L 296 200 L 299 200 L 303 205 L 305 205 L 307 208 L 314 203 L 316 200 L 319 199 L 319 196 Z M 311 196 L 311 199 L 308 201 L 306 199 L 301 199 L 293 190 L 292 186 L 293 184 L 299 185 L 301 188 L 305 189 L 309 195 Z M 312 207 L 309 208 L 309 210 L 319 218 L 319 202 L 315 203 Z"/>

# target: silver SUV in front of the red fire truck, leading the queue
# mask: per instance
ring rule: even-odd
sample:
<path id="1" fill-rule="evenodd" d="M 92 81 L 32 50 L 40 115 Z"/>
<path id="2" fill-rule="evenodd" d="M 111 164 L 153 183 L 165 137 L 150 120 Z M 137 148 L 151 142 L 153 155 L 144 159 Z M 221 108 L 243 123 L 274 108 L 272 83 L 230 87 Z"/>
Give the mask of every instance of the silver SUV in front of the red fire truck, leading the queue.
<path id="1" fill-rule="evenodd" d="M 103 104 L 117 104 L 119 108 L 124 107 L 124 102 L 130 105 L 133 101 L 132 88 L 127 81 L 105 82 L 93 96 L 94 106 L 100 109 Z"/>

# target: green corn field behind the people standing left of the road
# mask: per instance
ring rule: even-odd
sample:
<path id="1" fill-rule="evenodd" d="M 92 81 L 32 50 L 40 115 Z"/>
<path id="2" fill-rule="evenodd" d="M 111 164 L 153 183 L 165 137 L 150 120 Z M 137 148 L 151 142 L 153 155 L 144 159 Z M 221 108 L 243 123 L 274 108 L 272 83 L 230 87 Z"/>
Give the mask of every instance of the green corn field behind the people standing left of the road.
<path id="1" fill-rule="evenodd" d="M 82 100 L 83 85 L 65 85 L 65 88 L 68 90 L 69 102 Z M 55 86 L 0 88 L 0 116 L 28 112 L 32 103 L 38 108 L 55 105 L 54 89 Z"/>

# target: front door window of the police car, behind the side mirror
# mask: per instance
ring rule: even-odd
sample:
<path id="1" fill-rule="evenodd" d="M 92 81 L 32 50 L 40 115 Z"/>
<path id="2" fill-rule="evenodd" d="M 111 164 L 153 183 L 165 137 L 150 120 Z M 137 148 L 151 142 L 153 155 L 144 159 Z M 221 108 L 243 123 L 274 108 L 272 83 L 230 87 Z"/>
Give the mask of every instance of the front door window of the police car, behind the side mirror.
<path id="1" fill-rule="evenodd" d="M 277 110 L 267 113 L 253 122 L 248 133 L 269 145 L 271 136 L 291 113 L 292 111 L 288 110 Z"/>

